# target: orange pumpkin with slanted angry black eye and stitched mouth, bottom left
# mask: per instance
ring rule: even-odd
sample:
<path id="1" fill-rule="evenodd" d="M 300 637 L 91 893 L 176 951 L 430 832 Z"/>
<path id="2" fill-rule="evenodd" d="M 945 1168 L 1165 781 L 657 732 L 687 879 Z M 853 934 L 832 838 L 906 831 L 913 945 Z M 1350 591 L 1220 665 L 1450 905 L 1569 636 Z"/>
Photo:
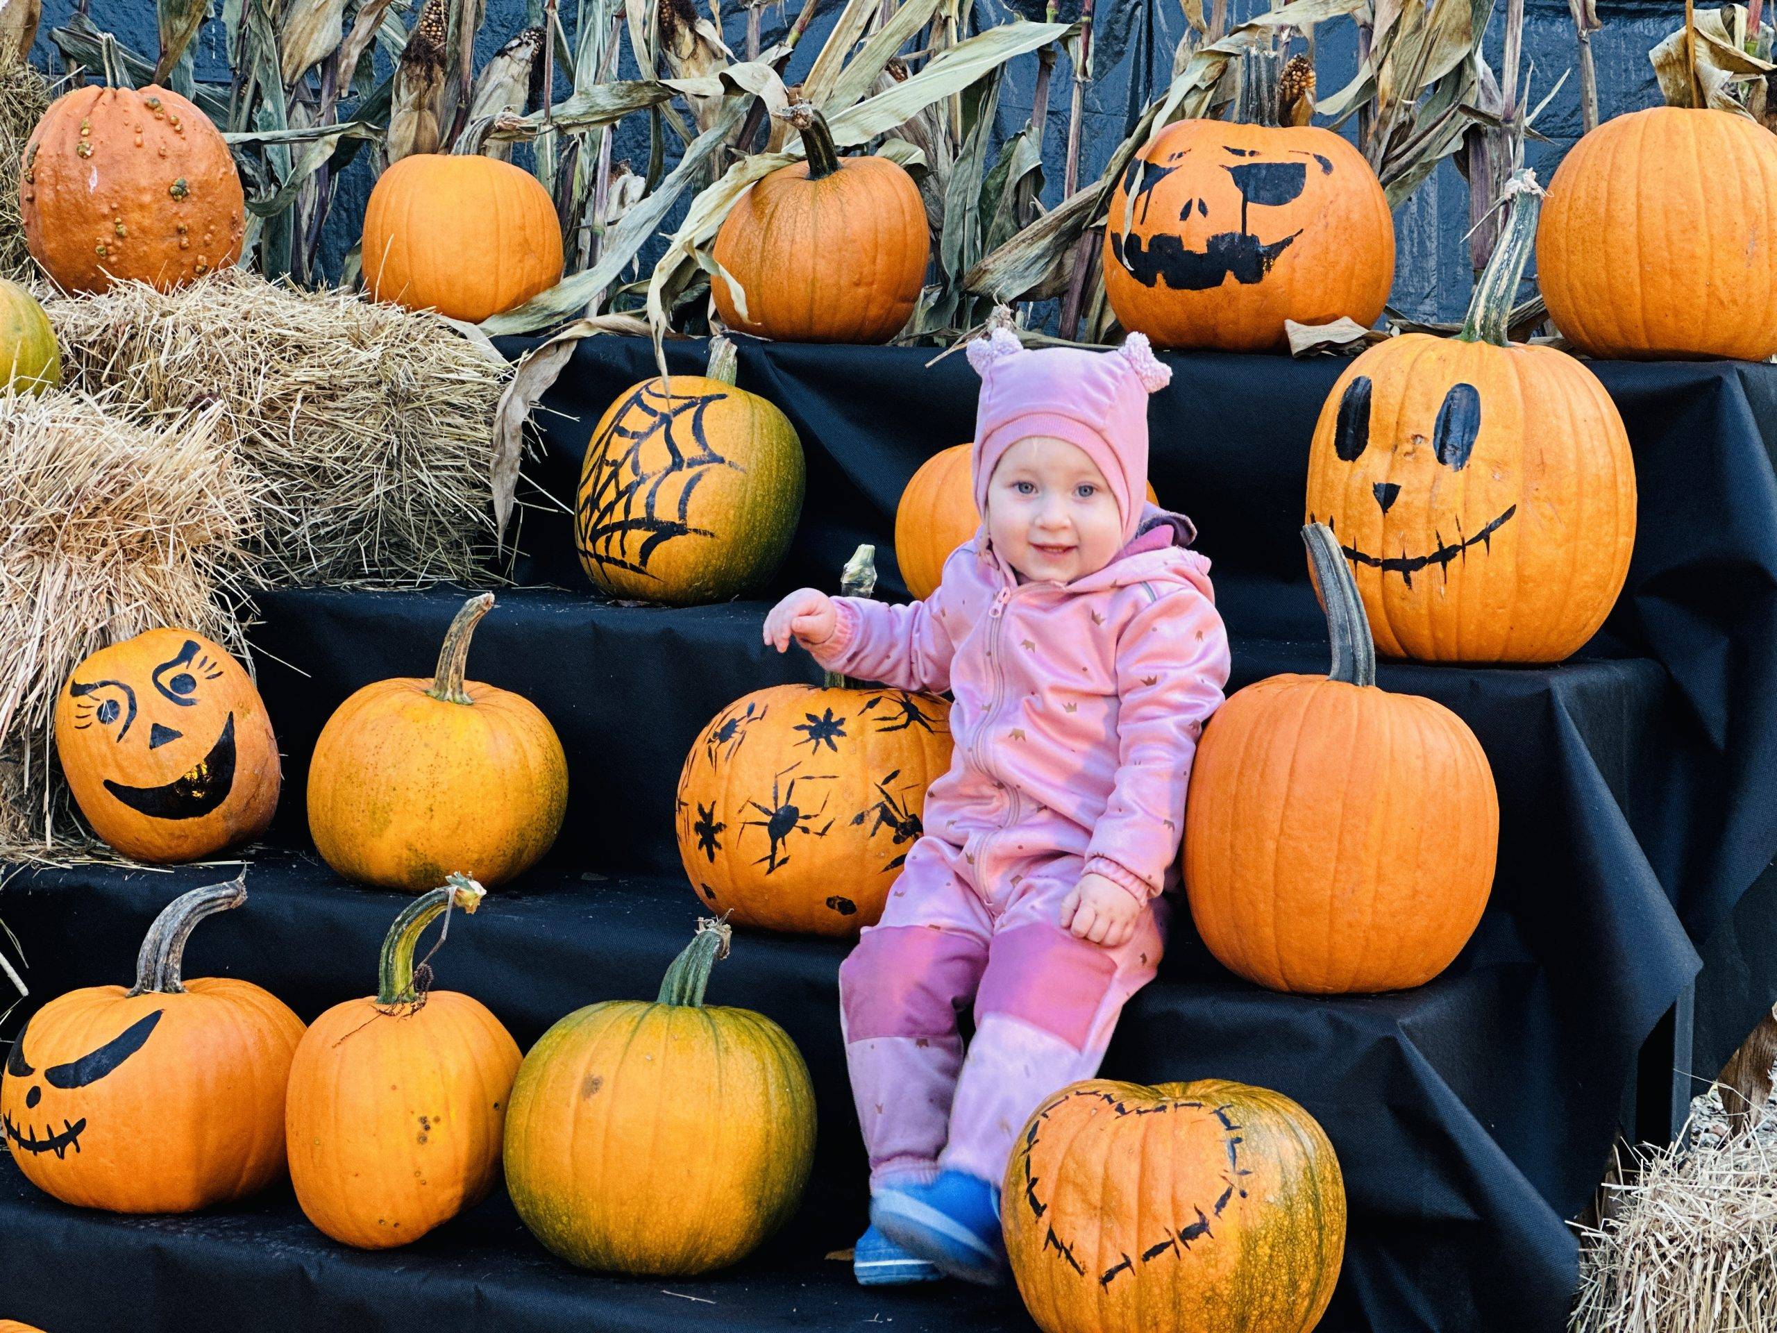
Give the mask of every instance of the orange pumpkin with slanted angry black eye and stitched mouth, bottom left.
<path id="1" fill-rule="evenodd" d="M 112 1212 L 194 1212 L 284 1175 L 284 1084 L 302 1020 L 235 978 L 181 981 L 192 928 L 247 901 L 194 889 L 155 919 L 135 986 L 44 1004 L 0 1077 L 0 1132 L 37 1189 Z"/>

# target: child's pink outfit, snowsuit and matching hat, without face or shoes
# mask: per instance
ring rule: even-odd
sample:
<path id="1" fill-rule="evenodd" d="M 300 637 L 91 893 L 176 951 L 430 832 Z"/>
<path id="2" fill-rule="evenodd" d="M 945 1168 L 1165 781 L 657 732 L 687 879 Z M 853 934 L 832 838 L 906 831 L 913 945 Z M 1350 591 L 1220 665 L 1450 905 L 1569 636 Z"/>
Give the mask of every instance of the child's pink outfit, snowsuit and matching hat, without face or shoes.
<path id="1" fill-rule="evenodd" d="M 839 969 L 873 1189 L 940 1166 L 999 1185 L 1038 1104 L 1098 1070 L 1160 962 L 1157 899 L 1176 880 L 1198 734 L 1228 682 L 1208 560 L 1183 549 L 1189 521 L 1141 507 L 1146 395 L 1167 377 L 1146 341 L 1022 352 L 995 334 L 970 361 L 984 380 L 977 505 L 1006 448 L 1057 435 L 1105 475 L 1127 544 L 1073 583 L 1020 583 L 983 524 L 924 603 L 841 599 L 832 636 L 810 647 L 830 670 L 956 698 L 926 835 Z M 1150 903 L 1116 949 L 1059 926 L 1088 871 Z"/>

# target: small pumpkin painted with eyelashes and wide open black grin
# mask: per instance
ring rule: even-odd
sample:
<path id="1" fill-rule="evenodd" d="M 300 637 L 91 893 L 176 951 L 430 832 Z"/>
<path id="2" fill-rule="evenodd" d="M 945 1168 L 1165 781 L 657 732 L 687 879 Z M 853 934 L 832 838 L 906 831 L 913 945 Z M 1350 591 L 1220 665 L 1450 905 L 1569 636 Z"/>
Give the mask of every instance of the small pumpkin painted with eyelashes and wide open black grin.
<path id="1" fill-rule="evenodd" d="M 263 834 L 277 738 L 252 677 L 188 629 L 80 663 L 55 700 L 55 754 L 92 832 L 126 857 L 199 860 Z"/>

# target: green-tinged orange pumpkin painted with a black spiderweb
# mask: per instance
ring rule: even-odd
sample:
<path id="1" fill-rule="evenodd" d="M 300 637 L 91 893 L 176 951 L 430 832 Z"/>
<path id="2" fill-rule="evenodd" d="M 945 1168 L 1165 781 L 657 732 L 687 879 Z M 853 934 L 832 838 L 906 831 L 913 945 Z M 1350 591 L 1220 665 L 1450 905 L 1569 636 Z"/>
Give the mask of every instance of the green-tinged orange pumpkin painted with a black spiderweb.
<path id="1" fill-rule="evenodd" d="M 599 418 L 579 471 L 574 544 L 608 597 L 702 606 L 771 581 L 801 517 L 801 441 L 734 387 L 734 345 L 709 375 L 641 380 Z"/>

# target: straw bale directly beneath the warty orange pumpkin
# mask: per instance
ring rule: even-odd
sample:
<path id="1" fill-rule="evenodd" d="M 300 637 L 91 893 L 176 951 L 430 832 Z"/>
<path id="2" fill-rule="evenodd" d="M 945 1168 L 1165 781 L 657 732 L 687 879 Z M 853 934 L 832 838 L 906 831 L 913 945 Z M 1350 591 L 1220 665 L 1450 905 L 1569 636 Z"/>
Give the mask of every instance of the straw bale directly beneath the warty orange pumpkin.
<path id="1" fill-rule="evenodd" d="M 233 270 L 46 304 L 68 382 L 140 419 L 222 409 L 265 483 L 268 585 L 485 581 L 498 354 L 432 315 Z"/>

